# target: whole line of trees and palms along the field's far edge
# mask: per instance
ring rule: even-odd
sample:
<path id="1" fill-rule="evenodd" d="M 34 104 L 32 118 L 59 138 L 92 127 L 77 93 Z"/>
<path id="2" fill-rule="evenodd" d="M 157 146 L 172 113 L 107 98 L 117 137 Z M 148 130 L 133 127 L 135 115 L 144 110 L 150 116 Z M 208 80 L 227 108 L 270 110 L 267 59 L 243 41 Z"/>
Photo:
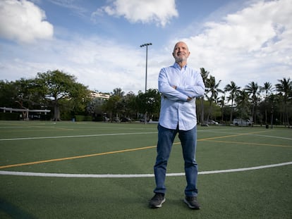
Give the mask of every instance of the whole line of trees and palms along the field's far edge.
<path id="1" fill-rule="evenodd" d="M 279 123 L 289 126 L 292 120 L 292 81 L 278 80 L 272 85 L 265 82 L 260 86 L 250 82 L 239 87 L 231 82 L 220 89 L 221 80 L 200 68 L 205 82 L 205 96 L 197 99 L 197 118 L 203 124 L 208 120 L 232 123 L 233 118 L 250 118 L 257 124 Z M 16 81 L 0 80 L 0 107 L 51 108 L 52 120 L 72 118 L 75 115 L 91 115 L 100 120 L 105 114 L 111 118 L 129 117 L 133 120 L 147 113 L 148 119 L 159 118 L 160 94 L 157 89 L 148 89 L 125 94 L 116 88 L 108 100 L 95 101 L 90 90 L 76 81 L 76 77 L 59 70 L 37 73 L 32 79 Z"/>

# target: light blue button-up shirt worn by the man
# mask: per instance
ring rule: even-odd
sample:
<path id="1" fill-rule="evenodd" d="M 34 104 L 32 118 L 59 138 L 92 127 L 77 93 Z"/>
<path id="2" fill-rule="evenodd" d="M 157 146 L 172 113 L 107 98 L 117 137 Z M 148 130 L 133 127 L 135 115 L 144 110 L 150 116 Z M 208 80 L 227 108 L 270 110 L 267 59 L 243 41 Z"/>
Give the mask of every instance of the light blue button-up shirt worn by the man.
<path id="1" fill-rule="evenodd" d="M 174 87 L 176 86 L 176 89 Z M 197 71 L 177 63 L 162 68 L 158 77 L 158 89 L 162 94 L 159 124 L 176 130 L 191 130 L 197 125 L 195 98 L 204 95 L 205 85 Z M 188 101 L 188 97 L 193 98 Z"/>

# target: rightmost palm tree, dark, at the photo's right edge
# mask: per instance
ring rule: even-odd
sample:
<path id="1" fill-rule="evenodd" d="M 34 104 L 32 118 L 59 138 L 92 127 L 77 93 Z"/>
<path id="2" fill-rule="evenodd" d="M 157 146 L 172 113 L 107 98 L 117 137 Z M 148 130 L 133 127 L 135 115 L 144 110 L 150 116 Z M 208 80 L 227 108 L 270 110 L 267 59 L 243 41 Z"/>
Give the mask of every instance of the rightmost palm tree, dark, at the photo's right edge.
<path id="1" fill-rule="evenodd" d="M 289 127 L 289 120 L 288 120 L 288 101 L 292 98 L 292 81 L 290 77 L 286 79 L 285 77 L 283 80 L 278 80 L 280 83 L 276 84 L 276 91 L 283 96 L 284 99 L 284 125 L 288 125 Z"/>

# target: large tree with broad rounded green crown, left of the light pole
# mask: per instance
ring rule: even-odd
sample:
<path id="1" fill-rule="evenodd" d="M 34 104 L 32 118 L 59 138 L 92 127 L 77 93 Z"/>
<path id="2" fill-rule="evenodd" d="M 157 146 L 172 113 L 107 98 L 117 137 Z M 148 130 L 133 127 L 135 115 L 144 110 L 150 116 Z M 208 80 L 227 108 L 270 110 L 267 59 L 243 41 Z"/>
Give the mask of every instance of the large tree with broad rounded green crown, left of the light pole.
<path id="1" fill-rule="evenodd" d="M 35 90 L 54 108 L 54 120 L 60 119 L 60 107 L 82 111 L 87 105 L 90 91 L 76 82 L 73 75 L 59 70 L 37 73 Z"/>

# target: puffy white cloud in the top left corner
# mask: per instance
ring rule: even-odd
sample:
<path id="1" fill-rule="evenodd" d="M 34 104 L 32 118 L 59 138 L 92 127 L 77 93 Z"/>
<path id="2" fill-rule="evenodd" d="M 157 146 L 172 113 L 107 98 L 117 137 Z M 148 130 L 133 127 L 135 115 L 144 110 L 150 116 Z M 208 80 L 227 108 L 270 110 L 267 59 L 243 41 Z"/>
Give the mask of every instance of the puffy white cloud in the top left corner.
<path id="1" fill-rule="evenodd" d="M 26 0 L 0 1 L 0 36 L 17 42 L 51 39 L 53 25 L 45 21 L 42 9 Z"/>

